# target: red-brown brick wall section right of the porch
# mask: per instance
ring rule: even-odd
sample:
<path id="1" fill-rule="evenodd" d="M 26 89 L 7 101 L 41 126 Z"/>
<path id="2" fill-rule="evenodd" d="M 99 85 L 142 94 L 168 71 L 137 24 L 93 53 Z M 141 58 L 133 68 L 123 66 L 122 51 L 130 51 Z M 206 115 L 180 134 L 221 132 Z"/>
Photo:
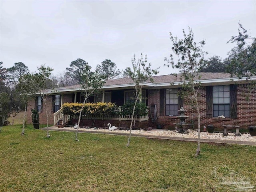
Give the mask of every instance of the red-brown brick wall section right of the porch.
<path id="1" fill-rule="evenodd" d="M 206 118 L 206 90 L 205 87 L 200 88 L 199 94 L 199 108 L 200 108 L 200 117 L 201 117 L 201 129 L 205 125 L 214 125 L 215 130 L 222 131 L 223 126 L 222 125 L 239 125 L 240 128 L 247 130 L 249 126 L 255 126 L 256 125 L 256 91 L 252 92 L 250 94 L 250 99 L 246 101 L 246 95 L 249 93 L 249 90 L 247 88 L 247 85 L 241 84 L 237 87 L 237 119 L 232 118 Z M 148 103 L 149 103 L 149 109 L 150 104 L 155 103 L 158 108 L 158 119 L 157 121 L 152 125 L 153 127 L 156 127 L 157 124 L 164 125 L 164 128 L 174 128 L 173 123 L 179 122 L 179 119 L 177 117 L 169 117 L 169 116 L 159 116 L 159 110 L 160 110 L 160 90 L 149 90 L 148 91 Z M 184 98 L 184 109 L 187 110 L 185 113 L 186 116 L 189 116 L 189 118 L 186 120 L 186 122 L 191 123 L 194 119 L 194 127 L 197 128 L 198 122 L 197 122 L 197 114 L 196 109 L 193 109 L 188 104 L 189 98 Z M 194 115 L 194 116 L 193 116 Z M 149 116 L 150 116 L 150 110 L 149 110 Z M 193 118 L 192 118 L 193 116 Z"/>

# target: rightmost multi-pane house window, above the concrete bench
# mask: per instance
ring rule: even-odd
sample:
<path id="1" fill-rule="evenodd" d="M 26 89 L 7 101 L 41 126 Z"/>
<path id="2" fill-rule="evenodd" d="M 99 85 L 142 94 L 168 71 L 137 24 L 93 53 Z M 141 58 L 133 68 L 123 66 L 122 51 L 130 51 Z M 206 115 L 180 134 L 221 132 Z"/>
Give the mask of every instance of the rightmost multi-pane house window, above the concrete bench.
<path id="1" fill-rule="evenodd" d="M 212 87 L 213 116 L 230 117 L 230 86 L 219 85 Z"/>

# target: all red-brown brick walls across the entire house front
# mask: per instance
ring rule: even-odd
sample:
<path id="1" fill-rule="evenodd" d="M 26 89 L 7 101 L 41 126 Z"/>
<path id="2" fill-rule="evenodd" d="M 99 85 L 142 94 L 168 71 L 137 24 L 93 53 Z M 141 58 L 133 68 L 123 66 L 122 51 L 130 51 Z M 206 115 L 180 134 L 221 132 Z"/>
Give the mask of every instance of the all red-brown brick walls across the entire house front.
<path id="1" fill-rule="evenodd" d="M 201 129 L 205 125 L 214 125 L 215 130 L 223 130 L 222 125 L 239 125 L 240 128 L 245 130 L 248 129 L 248 126 L 256 126 L 256 91 L 250 94 L 250 99 L 246 100 L 246 95 L 249 90 L 246 84 L 241 84 L 237 86 L 237 119 L 232 118 L 206 118 L 206 90 L 205 87 L 200 88 L 199 94 L 199 108 L 200 108 L 200 116 L 201 116 Z M 184 99 L 184 109 L 187 110 L 186 116 L 189 118 L 186 122 L 191 123 L 192 119 L 194 119 L 194 126 L 197 128 L 197 114 L 196 109 L 193 109 L 188 104 L 189 98 Z M 72 94 L 63 94 L 62 103 L 72 102 Z M 150 106 L 152 104 L 156 104 L 158 119 L 156 122 L 152 122 L 150 119 Z M 53 124 L 53 112 L 52 112 L 52 96 L 48 97 L 47 100 L 48 105 L 48 115 L 49 115 L 49 124 Z M 165 106 L 165 105 L 164 105 Z M 31 108 L 35 107 L 35 101 L 32 100 L 28 104 L 28 112 L 30 113 Z M 149 108 L 149 121 L 148 122 L 136 122 L 136 126 L 138 127 L 153 127 L 156 128 L 157 124 L 161 124 L 164 128 L 174 128 L 174 123 L 179 122 L 177 117 L 169 117 L 169 116 L 160 116 L 160 89 L 148 90 L 148 108 Z M 194 115 L 194 116 L 193 116 Z M 192 118 L 193 117 L 193 118 Z M 46 124 L 46 113 L 45 106 L 43 106 L 43 111 L 39 116 L 40 123 Z M 119 120 L 106 120 L 105 123 L 111 123 L 112 126 L 116 127 L 130 127 L 130 121 L 119 121 Z M 28 115 L 28 123 L 32 123 L 31 116 Z M 92 126 L 91 120 L 84 120 L 84 125 Z M 104 126 L 103 121 L 96 120 L 95 126 Z"/>

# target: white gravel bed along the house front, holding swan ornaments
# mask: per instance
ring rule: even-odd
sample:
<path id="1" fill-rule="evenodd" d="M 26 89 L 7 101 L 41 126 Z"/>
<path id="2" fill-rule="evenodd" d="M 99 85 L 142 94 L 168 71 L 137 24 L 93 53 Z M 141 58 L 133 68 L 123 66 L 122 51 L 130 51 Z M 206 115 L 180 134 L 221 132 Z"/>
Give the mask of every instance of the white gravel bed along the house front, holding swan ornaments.
<path id="1" fill-rule="evenodd" d="M 72 127 L 65 127 L 64 129 L 74 130 Z M 88 130 L 95 132 L 111 132 L 111 133 L 129 133 L 129 130 L 114 130 L 108 129 L 94 129 L 94 128 L 79 128 L 79 130 Z M 144 135 L 156 135 L 156 136 L 168 136 L 168 137 L 182 137 L 182 138 L 198 138 L 198 132 L 194 130 L 188 130 L 188 134 L 178 133 L 174 130 L 132 130 L 133 134 L 144 134 Z M 235 136 L 234 133 L 228 133 L 228 136 L 223 136 L 222 133 L 208 134 L 208 132 L 201 132 L 200 137 L 202 139 L 218 139 L 218 140 L 237 140 L 237 141 L 252 141 L 256 142 L 256 137 L 250 136 L 250 134 L 241 134 L 241 136 Z"/>

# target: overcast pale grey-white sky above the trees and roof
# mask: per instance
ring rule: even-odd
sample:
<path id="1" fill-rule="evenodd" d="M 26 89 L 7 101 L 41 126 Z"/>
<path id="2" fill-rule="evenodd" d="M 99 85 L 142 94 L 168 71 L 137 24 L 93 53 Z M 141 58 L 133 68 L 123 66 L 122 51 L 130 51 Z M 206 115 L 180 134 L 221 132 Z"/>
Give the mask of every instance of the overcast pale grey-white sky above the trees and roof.
<path id="1" fill-rule="evenodd" d="M 238 21 L 256 35 L 256 0 L 241 1 L 64 1 L 0 0 L 0 61 L 23 62 L 30 72 L 46 64 L 54 74 L 77 58 L 94 69 L 105 59 L 121 70 L 133 54 L 148 54 L 160 75 L 170 55 L 170 34 L 182 38 L 190 26 L 195 40 L 206 40 L 208 57 L 226 57 L 235 44 Z"/>

